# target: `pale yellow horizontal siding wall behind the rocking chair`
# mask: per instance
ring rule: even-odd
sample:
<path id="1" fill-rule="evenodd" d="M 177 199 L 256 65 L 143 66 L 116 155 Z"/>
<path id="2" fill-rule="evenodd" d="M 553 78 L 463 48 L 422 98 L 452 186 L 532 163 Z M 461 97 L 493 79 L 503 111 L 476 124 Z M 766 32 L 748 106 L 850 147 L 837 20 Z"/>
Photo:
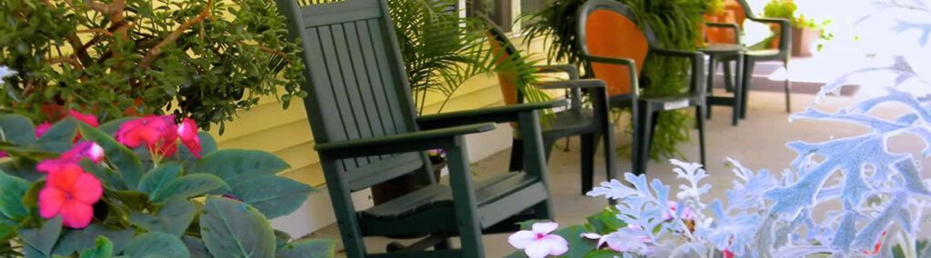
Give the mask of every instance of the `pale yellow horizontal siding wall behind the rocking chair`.
<path id="1" fill-rule="evenodd" d="M 437 95 L 427 98 L 425 114 L 436 114 L 439 110 L 443 99 Z M 502 104 L 504 100 L 497 78 L 493 75 L 479 75 L 459 88 L 442 111 Z M 301 100 L 291 102 L 290 108 L 283 110 L 274 98 L 263 98 L 259 105 L 240 111 L 238 119 L 227 123 L 223 136 L 217 135 L 215 130 L 211 134 L 216 137 L 220 148 L 257 149 L 274 153 L 291 166 L 290 170 L 283 173 L 284 176 L 314 186 L 324 184 L 319 157 L 314 151 L 314 137 Z"/>

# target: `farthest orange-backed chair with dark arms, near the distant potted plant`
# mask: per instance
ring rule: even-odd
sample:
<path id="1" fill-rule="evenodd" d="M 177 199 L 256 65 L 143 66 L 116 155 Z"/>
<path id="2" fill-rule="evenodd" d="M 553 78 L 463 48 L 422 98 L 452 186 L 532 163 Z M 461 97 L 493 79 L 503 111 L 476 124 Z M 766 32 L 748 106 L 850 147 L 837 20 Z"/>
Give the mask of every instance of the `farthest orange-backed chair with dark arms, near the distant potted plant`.
<path id="1" fill-rule="evenodd" d="M 724 64 L 724 82 L 727 88 L 732 88 L 732 85 L 737 85 L 741 87 L 740 94 L 743 96 L 740 97 L 741 107 L 740 107 L 740 118 L 747 118 L 747 99 L 749 99 L 749 88 L 750 82 L 753 80 L 753 67 L 756 66 L 757 61 L 781 61 L 782 68 L 786 70 L 786 73 L 789 73 L 789 57 L 791 56 L 791 46 L 792 46 L 792 29 L 789 25 L 789 20 L 786 19 L 775 19 L 775 18 L 760 18 L 753 14 L 752 9 L 746 0 L 736 0 L 740 4 L 741 9 L 743 9 L 744 15 L 747 20 L 752 20 L 755 22 L 777 25 L 779 27 L 778 36 L 778 48 L 776 49 L 759 49 L 759 50 L 747 50 L 744 52 L 743 68 L 740 69 L 743 75 L 740 75 L 740 83 L 732 83 L 731 78 L 731 60 L 721 60 Z M 734 38 L 737 40 L 736 44 L 740 43 L 741 28 L 743 24 L 734 24 L 734 23 L 720 23 L 720 22 L 706 22 L 710 27 L 716 27 L 721 29 L 729 29 L 734 33 Z M 715 65 L 709 67 L 711 75 L 714 75 Z M 708 86 L 713 87 L 713 86 Z M 791 113 L 791 91 L 792 91 L 792 82 L 789 81 L 789 76 L 786 76 L 785 81 L 783 81 L 783 87 L 786 92 L 786 113 Z M 710 115 L 710 110 L 708 111 Z"/>

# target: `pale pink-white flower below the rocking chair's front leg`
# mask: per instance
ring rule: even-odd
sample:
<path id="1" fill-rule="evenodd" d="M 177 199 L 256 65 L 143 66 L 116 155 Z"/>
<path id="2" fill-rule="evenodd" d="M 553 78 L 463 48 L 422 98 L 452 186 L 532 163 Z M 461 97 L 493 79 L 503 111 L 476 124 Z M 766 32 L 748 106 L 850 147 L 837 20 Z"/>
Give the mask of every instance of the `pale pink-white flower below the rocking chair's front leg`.
<path id="1" fill-rule="evenodd" d="M 507 242 L 516 249 L 521 249 L 530 258 L 542 258 L 546 255 L 561 255 L 569 251 L 569 243 L 559 235 L 550 235 L 560 227 L 556 223 L 535 223 L 533 230 L 520 230 L 507 238 Z"/>

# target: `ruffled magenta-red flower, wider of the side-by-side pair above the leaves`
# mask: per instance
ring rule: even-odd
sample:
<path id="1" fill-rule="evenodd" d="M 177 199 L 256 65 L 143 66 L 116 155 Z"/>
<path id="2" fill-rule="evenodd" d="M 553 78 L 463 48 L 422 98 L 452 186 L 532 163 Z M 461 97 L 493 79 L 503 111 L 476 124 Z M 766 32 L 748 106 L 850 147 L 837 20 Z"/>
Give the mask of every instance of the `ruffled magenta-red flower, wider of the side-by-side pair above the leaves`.
<path id="1" fill-rule="evenodd" d="M 155 155 L 173 156 L 178 150 L 178 127 L 173 115 L 145 116 L 120 125 L 116 142 L 130 148 L 144 144 Z"/>

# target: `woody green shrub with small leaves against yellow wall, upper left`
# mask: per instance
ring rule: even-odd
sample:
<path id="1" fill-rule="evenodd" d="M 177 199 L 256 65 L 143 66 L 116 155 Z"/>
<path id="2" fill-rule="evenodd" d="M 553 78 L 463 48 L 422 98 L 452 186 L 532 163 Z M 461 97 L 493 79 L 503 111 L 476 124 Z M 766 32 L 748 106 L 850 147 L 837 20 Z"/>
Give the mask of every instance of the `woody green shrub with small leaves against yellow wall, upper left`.
<path id="1" fill-rule="evenodd" d="M 276 96 L 303 97 L 299 48 L 263 0 L 20 0 L 0 5 L 0 112 L 55 121 L 192 117 L 209 129 Z"/>

